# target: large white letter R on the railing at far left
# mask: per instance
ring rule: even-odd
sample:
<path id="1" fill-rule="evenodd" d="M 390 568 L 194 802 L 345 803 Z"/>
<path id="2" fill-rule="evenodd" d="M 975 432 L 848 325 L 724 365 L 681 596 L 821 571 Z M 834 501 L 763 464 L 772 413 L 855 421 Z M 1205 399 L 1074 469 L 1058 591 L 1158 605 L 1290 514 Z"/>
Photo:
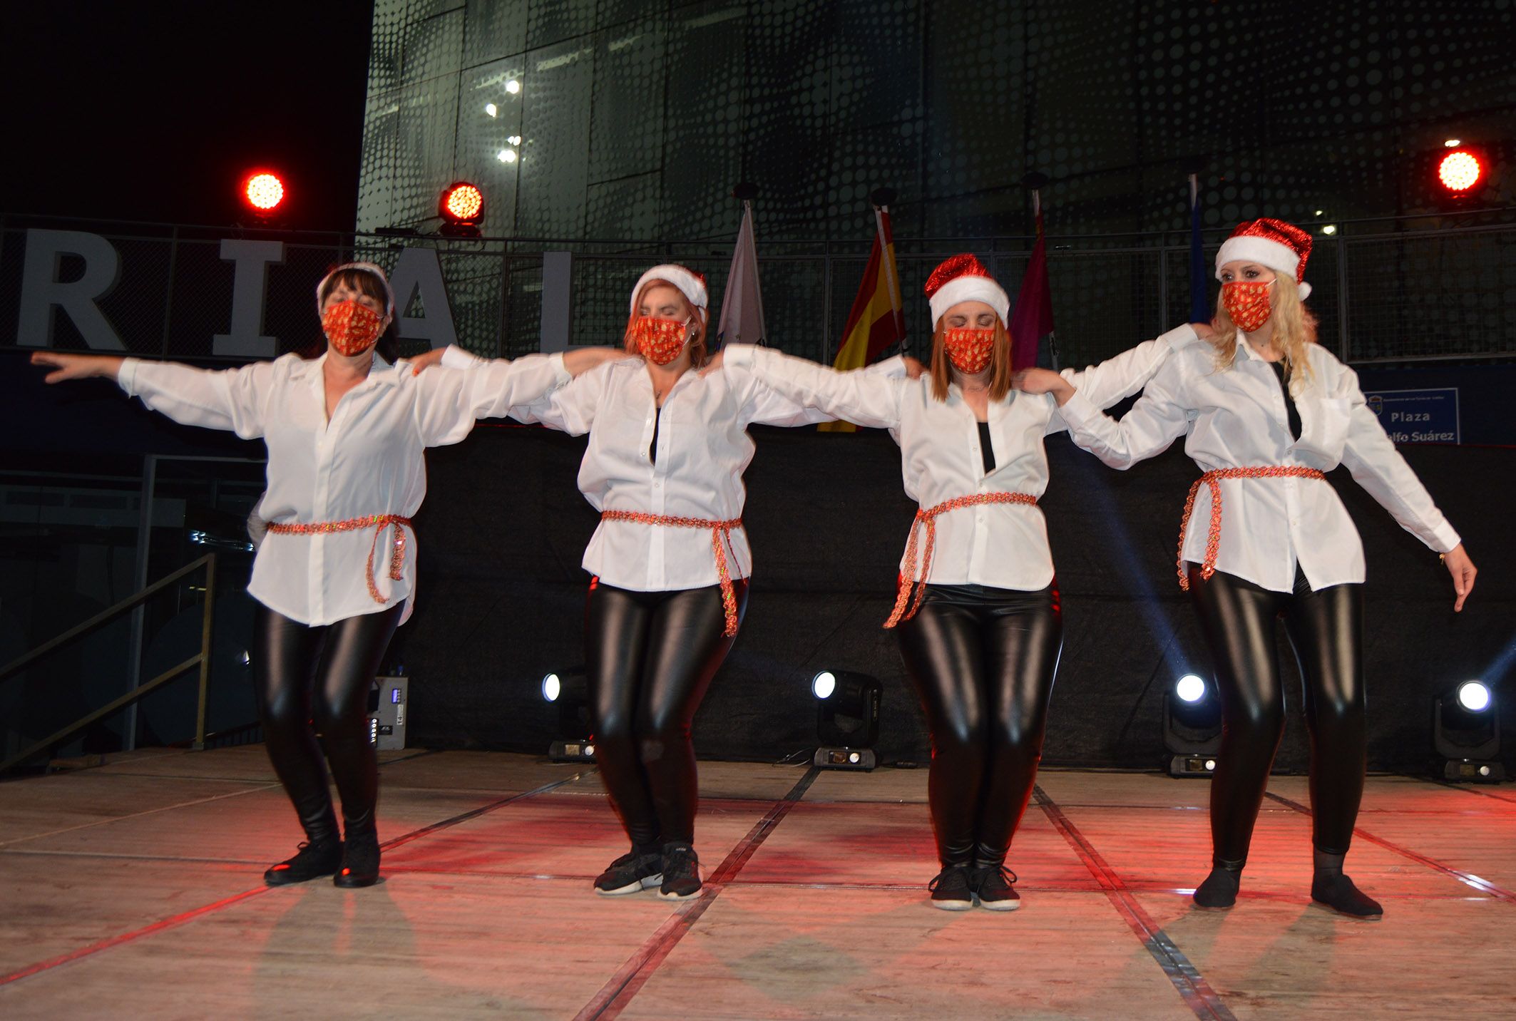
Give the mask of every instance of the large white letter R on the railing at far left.
<path id="1" fill-rule="evenodd" d="M 77 280 L 59 280 L 64 256 L 77 256 L 85 271 Z M 100 306 L 121 276 L 121 256 L 97 233 L 82 230 L 27 230 L 26 265 L 21 270 L 21 315 L 15 342 L 24 347 L 53 345 L 53 309 L 62 309 L 97 351 L 124 351 Z"/>

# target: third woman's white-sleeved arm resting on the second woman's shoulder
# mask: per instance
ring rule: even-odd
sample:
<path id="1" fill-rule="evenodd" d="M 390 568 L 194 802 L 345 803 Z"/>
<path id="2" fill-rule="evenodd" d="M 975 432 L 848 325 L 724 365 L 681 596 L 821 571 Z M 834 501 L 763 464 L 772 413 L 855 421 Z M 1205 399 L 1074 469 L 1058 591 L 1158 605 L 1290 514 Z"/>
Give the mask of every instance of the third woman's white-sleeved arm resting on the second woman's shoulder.
<path id="1" fill-rule="evenodd" d="M 728 344 L 722 354 L 725 371 L 746 373 L 767 391 L 755 394 L 752 421 L 800 426 L 844 418 L 875 429 L 894 429 L 901 423 L 901 394 L 910 373 L 904 359 L 838 373 L 750 344 Z"/>

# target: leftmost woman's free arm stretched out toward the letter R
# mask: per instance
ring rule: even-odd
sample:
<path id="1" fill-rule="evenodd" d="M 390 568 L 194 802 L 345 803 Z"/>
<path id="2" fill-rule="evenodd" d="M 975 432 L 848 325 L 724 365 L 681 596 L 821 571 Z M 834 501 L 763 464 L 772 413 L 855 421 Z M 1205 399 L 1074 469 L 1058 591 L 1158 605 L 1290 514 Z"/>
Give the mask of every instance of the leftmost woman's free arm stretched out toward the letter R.
<path id="1" fill-rule="evenodd" d="M 114 379 L 132 397 L 185 426 L 227 429 L 243 439 L 264 435 L 264 397 L 271 362 L 241 368 L 205 370 L 177 362 L 155 362 L 118 354 L 33 351 L 33 365 L 52 368 L 44 380 Z"/>

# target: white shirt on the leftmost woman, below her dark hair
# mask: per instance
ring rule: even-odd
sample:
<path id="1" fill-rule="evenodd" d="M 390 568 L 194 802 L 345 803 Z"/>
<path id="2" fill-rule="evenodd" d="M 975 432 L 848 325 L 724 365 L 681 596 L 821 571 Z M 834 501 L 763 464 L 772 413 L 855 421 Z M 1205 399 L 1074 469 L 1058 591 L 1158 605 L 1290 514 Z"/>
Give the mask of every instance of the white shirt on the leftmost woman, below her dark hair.
<path id="1" fill-rule="evenodd" d="M 562 356 L 494 362 L 479 373 L 429 370 L 405 361 L 374 367 L 343 394 L 326 420 L 326 356 L 208 371 L 174 362 L 124 359 L 117 382 L 153 411 L 186 426 L 227 429 L 268 447 L 268 491 L 259 515 L 282 524 L 414 515 L 426 495 L 426 447 L 455 444 L 476 418 L 505 415 L 568 382 Z M 403 577 L 390 579 L 393 526 L 379 535 L 368 594 L 365 562 L 374 529 L 314 535 L 271 533 L 258 547 L 247 592 L 271 610 L 320 626 L 376 614 L 415 592 L 415 538 L 406 536 Z"/>

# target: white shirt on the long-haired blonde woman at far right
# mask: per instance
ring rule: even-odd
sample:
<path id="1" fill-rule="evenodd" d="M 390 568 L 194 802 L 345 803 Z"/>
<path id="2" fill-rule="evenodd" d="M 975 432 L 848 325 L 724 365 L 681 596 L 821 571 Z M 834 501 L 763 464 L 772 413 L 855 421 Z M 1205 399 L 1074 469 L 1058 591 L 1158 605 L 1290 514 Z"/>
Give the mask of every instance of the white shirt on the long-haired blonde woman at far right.
<path id="1" fill-rule="evenodd" d="M 1339 464 L 1407 532 L 1439 553 L 1458 533 L 1395 450 L 1358 389 L 1358 374 L 1319 344 L 1307 344 L 1310 373 L 1290 394 L 1301 438 L 1290 435 L 1284 392 L 1273 368 L 1237 335 L 1225 371 L 1210 344 L 1179 351 L 1117 423 L 1082 394 L 1063 406 L 1073 441 L 1113 468 L 1128 468 L 1189 435 L 1184 450 L 1204 471 L 1299 465 L 1331 471 Z M 1296 564 L 1313 589 L 1363 582 L 1363 541 L 1337 491 L 1320 479 L 1222 479 L 1222 533 L 1216 570 L 1275 592 L 1295 588 Z M 1202 564 L 1210 536 L 1211 494 L 1201 486 L 1184 535 L 1184 559 Z"/>

